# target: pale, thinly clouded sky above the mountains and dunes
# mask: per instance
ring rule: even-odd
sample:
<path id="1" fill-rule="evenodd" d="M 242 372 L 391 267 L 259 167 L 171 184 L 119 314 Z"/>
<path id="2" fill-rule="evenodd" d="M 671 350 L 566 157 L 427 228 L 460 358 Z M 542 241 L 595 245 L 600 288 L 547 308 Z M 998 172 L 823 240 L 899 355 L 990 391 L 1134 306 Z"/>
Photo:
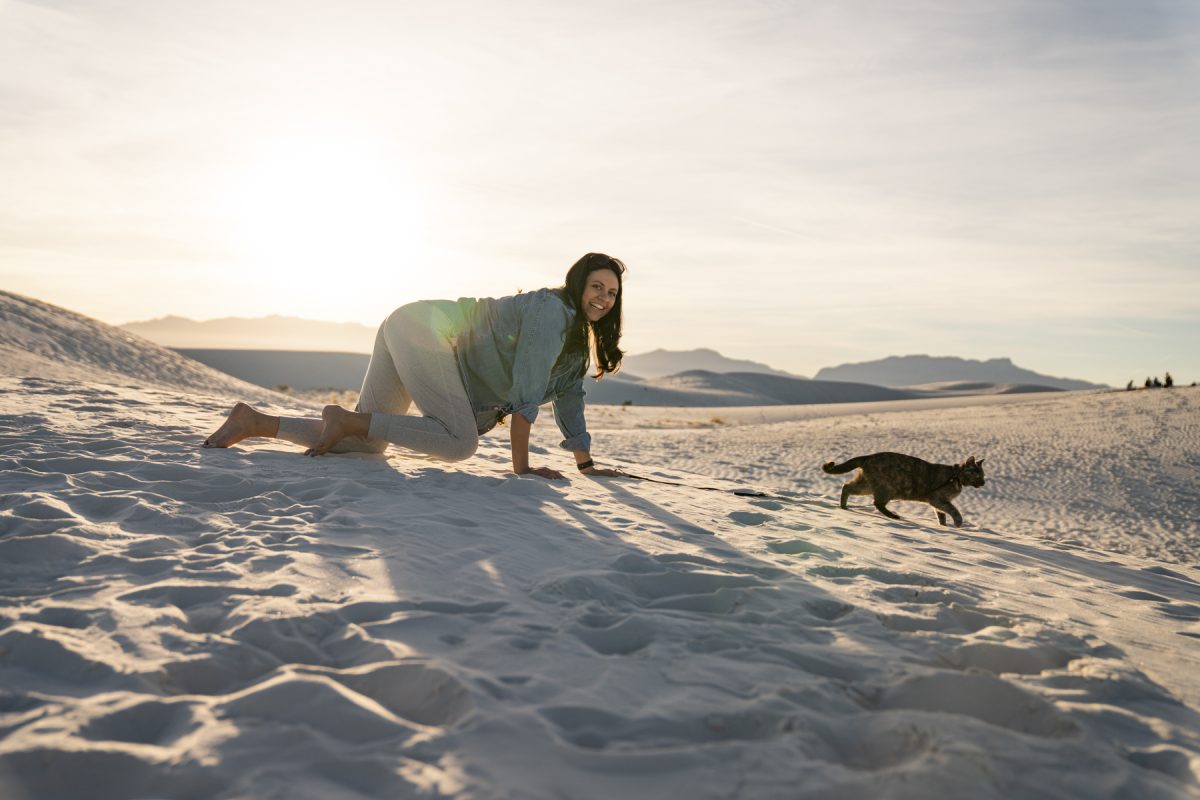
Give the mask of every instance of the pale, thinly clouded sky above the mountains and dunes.
<path id="1" fill-rule="evenodd" d="M 1192 0 L 0 0 L 0 289 L 374 325 L 629 266 L 623 345 L 1200 380 Z"/>

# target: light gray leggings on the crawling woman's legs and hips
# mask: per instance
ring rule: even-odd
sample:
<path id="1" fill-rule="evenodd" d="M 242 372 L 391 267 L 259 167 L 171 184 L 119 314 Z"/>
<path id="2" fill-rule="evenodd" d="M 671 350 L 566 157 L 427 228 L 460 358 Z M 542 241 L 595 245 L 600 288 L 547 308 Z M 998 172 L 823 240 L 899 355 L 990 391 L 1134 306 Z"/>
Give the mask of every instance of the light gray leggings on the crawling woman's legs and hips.
<path id="1" fill-rule="evenodd" d="M 443 461 L 470 458 L 479 446 L 475 414 L 452 343 L 466 320 L 458 303 L 426 300 L 383 320 L 355 411 L 371 414 L 367 437 L 347 437 L 332 452 L 383 452 L 388 444 Z M 408 416 L 413 403 L 425 416 Z M 280 417 L 278 438 L 311 447 L 322 421 Z"/>

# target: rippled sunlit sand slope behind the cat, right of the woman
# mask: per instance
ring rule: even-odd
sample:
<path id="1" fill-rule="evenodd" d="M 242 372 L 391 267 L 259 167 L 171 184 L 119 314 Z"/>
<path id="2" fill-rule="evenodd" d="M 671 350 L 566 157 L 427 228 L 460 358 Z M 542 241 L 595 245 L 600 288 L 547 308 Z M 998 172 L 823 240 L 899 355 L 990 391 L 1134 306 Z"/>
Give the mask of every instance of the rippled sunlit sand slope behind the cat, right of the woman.
<path id="1" fill-rule="evenodd" d="M 802 419 L 780 410 L 764 417 L 780 421 L 750 427 L 743 423 L 755 420 L 754 409 L 607 413 L 598 423 L 691 420 L 690 432 L 613 431 L 608 447 L 643 463 L 830 497 L 844 482 L 821 471 L 830 459 L 893 450 L 959 463 L 973 455 L 986 459 L 989 482 L 959 498 L 971 523 L 1200 565 L 1200 389 L 960 402 L 798 407 L 792 416 Z M 868 498 L 857 503 L 870 507 Z M 904 504 L 898 510 L 906 513 Z M 928 507 L 907 513 L 932 519 Z"/>

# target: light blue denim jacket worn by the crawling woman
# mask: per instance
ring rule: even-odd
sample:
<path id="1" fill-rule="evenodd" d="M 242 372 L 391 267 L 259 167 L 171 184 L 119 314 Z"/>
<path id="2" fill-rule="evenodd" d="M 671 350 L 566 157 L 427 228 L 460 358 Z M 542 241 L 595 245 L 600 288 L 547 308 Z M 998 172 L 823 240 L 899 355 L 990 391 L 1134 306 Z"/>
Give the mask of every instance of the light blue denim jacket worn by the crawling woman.
<path id="1" fill-rule="evenodd" d="M 587 353 L 563 353 L 575 309 L 553 289 L 511 297 L 462 297 L 464 326 L 455 341 L 458 372 L 480 433 L 520 414 L 532 423 L 553 402 L 565 450 L 590 450 L 583 420 Z"/>

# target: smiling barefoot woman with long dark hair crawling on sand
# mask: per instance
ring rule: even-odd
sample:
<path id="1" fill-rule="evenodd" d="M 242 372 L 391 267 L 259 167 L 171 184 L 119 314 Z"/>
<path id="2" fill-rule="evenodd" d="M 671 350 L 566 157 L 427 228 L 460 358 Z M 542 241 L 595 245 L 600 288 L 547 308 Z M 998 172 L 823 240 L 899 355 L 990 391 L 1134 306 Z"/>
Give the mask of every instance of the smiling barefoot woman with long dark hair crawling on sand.
<path id="1" fill-rule="evenodd" d="M 286 439 L 306 456 L 383 452 L 400 445 L 444 461 L 469 458 L 479 437 L 511 415 L 512 471 L 563 474 L 529 465 L 529 428 L 553 402 L 562 446 L 580 471 L 620 476 L 592 461 L 583 420 L 589 351 L 596 378 L 616 372 L 620 350 L 620 259 L 588 253 L 564 285 L 510 297 L 426 300 L 401 306 L 379 326 L 354 411 L 326 405 L 322 419 L 270 416 L 245 403 L 204 440 L 228 447 L 251 437 Z M 408 416 L 412 403 L 425 416 Z"/>

